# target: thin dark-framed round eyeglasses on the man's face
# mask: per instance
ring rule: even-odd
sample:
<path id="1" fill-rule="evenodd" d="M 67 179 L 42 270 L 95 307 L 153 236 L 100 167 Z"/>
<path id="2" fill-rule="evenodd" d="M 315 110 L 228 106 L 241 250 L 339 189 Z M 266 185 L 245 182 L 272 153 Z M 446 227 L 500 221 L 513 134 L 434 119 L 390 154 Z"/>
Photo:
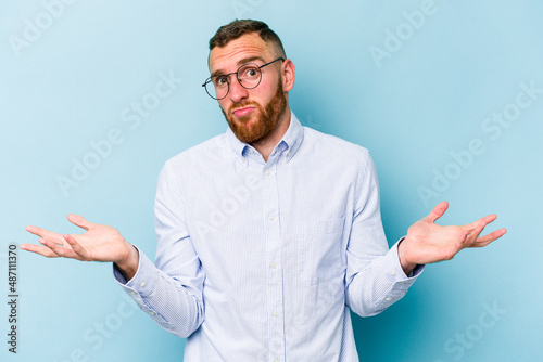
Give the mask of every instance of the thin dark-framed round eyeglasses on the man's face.
<path id="1" fill-rule="evenodd" d="M 202 87 L 205 88 L 205 91 L 214 100 L 222 100 L 228 92 L 230 91 L 230 81 L 229 77 L 235 74 L 236 78 L 238 78 L 241 87 L 245 89 L 256 88 L 262 80 L 262 72 L 261 69 L 266 65 L 275 63 L 277 61 L 285 61 L 283 57 L 278 57 L 275 61 L 266 63 L 264 65 L 256 65 L 254 63 L 247 63 L 241 65 L 238 70 L 228 73 L 226 75 L 212 76 L 205 80 Z"/>

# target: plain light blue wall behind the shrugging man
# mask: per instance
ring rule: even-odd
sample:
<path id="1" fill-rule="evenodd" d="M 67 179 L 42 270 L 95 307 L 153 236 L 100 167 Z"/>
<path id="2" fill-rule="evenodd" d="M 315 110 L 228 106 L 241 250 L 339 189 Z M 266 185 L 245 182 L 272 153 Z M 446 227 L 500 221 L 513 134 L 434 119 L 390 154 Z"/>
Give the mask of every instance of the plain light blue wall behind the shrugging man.
<path id="1" fill-rule="evenodd" d="M 114 225 L 154 257 L 162 165 L 226 130 L 200 86 L 209 76 L 209 39 L 236 17 L 263 20 L 281 37 L 296 65 L 290 102 L 302 124 L 371 151 L 391 245 L 441 199 L 451 204 L 442 224 L 496 212 L 491 230 L 508 229 L 484 249 L 428 266 L 384 313 L 354 316 L 361 360 L 540 361 L 538 1 L 2 1 L 5 300 L 8 245 L 36 243 L 28 224 L 79 232 L 65 219 L 79 214 Z M 161 75 L 176 78 L 163 99 L 153 95 Z M 540 91 L 530 98 L 522 87 Z M 146 100 L 160 104 L 136 124 L 132 102 Z M 492 116 L 504 112 L 513 120 L 500 126 Z M 115 129 L 117 144 L 92 158 L 91 143 Z M 477 154 L 469 151 L 472 140 Z M 86 157 L 94 168 L 79 174 L 77 185 L 60 186 L 59 178 L 72 178 L 74 163 Z M 8 352 L 2 301 L 0 360 L 182 359 L 184 340 L 132 312 L 111 264 L 17 253 L 17 354 Z"/>

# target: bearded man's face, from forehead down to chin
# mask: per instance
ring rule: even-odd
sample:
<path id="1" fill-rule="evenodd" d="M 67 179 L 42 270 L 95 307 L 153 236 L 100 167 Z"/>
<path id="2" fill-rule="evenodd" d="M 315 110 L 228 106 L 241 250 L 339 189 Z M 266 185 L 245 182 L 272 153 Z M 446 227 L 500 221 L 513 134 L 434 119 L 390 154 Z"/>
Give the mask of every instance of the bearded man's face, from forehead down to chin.
<path id="1" fill-rule="evenodd" d="M 210 53 L 210 72 L 228 74 L 240 65 L 263 65 L 277 59 L 272 47 L 255 33 L 230 41 L 224 48 L 214 48 Z M 280 62 L 261 69 L 261 83 L 254 89 L 241 87 L 236 75 L 229 77 L 228 95 L 218 101 L 233 134 L 245 143 L 261 141 L 277 129 L 287 109 L 287 98 L 281 85 Z"/>

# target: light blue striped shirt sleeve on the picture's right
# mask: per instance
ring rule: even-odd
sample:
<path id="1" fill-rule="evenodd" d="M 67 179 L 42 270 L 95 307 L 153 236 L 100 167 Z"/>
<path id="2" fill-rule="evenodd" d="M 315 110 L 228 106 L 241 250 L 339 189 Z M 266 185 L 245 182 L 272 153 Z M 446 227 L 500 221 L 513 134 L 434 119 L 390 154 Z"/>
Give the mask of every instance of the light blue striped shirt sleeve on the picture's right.
<path id="1" fill-rule="evenodd" d="M 379 185 L 374 161 L 366 153 L 357 184 L 357 197 L 346 249 L 346 303 L 361 316 L 378 314 L 400 300 L 422 272 L 417 267 L 408 277 L 390 250 L 381 223 Z"/>

